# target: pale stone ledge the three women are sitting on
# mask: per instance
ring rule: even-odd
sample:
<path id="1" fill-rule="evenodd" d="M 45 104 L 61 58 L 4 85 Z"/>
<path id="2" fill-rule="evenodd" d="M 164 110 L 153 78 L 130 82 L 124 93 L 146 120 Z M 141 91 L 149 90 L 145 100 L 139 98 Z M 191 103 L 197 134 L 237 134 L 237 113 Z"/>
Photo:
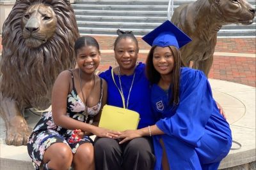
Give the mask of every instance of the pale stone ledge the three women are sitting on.
<path id="1" fill-rule="evenodd" d="M 222 160 L 219 169 L 252 170 L 255 167 L 255 88 L 221 80 L 210 80 L 212 93 L 216 101 L 223 106 L 235 141 L 242 148 L 231 150 Z M 29 115 L 27 122 L 34 127 L 40 117 Z M 33 166 L 26 146 L 8 146 L 4 144 L 5 127 L 0 118 L 0 169 L 32 170 Z M 236 148 L 237 146 L 232 146 Z"/>

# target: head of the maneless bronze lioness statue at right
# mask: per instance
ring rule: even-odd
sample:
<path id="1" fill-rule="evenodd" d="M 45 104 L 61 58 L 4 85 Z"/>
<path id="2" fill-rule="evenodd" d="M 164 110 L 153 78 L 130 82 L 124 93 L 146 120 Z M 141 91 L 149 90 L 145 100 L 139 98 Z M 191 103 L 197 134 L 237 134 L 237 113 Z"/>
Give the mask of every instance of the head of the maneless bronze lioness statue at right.
<path id="1" fill-rule="evenodd" d="M 246 0 L 212 0 L 225 24 L 250 25 L 255 17 L 255 8 Z"/>

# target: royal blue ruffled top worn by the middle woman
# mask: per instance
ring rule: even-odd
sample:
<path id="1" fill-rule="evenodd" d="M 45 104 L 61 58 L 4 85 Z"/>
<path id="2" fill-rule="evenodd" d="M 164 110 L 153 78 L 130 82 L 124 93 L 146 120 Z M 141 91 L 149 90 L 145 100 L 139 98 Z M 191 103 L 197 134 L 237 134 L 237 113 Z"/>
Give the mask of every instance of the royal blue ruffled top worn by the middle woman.
<path id="1" fill-rule="evenodd" d="M 107 104 L 123 108 L 120 92 L 116 88 L 117 85 L 120 89 L 118 75 L 114 74 L 114 78 L 116 81 L 115 85 L 114 81 L 112 80 L 111 69 L 112 67 L 110 66 L 107 71 L 104 71 L 99 75 L 101 78 L 104 78 L 104 80 L 106 80 L 108 83 Z M 138 129 L 140 129 L 143 127 L 147 127 L 148 125 L 154 125 L 155 119 L 153 117 L 153 113 L 150 107 L 150 83 L 145 75 L 145 64 L 142 64 L 140 62 L 136 69 L 134 70 L 134 73 L 136 74 L 134 77 L 134 83 L 132 86 L 129 98 L 129 105 L 127 109 L 137 111 L 138 113 L 140 113 L 140 122 L 138 125 Z M 125 106 L 127 106 L 127 97 L 131 87 L 132 78 L 133 74 L 130 76 L 120 76 L 122 90 L 124 92 Z"/>

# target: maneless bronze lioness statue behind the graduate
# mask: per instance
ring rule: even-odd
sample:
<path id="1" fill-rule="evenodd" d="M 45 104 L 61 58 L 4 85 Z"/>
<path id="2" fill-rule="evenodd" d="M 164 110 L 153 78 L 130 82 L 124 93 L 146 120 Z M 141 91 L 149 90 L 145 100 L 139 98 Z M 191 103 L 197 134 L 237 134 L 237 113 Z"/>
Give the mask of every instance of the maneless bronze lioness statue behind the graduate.
<path id="1" fill-rule="evenodd" d="M 185 64 L 208 75 L 217 32 L 226 24 L 252 24 L 254 17 L 255 9 L 246 0 L 198 0 L 180 5 L 172 22 L 193 40 L 180 49 Z"/>

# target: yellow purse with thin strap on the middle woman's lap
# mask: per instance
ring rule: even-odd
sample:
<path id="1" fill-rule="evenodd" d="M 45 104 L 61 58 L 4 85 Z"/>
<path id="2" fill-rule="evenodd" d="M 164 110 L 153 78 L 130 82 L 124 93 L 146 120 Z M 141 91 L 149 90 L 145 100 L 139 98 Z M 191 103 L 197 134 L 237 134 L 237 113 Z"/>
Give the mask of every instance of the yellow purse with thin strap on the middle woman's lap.
<path id="1" fill-rule="evenodd" d="M 111 70 L 111 74 L 112 74 L 113 81 L 116 85 L 113 69 Z M 118 76 L 120 80 L 120 72 Z M 134 76 L 135 76 L 135 73 L 134 73 Z M 134 81 L 134 77 L 132 80 L 132 85 L 133 85 L 133 81 Z M 131 85 L 129 94 L 131 93 L 132 85 Z M 121 83 L 120 83 L 120 86 L 122 87 Z M 128 106 L 125 108 L 125 99 L 122 92 L 122 88 L 120 90 L 117 87 L 117 89 L 121 94 L 124 108 L 109 106 L 106 104 L 103 107 L 101 112 L 99 127 L 104 127 L 106 129 L 110 129 L 113 131 L 125 131 L 128 129 L 135 130 L 138 128 L 138 124 L 140 121 L 140 114 L 137 113 L 136 111 L 128 110 L 127 109 Z M 129 97 L 127 99 L 127 103 L 128 101 L 129 101 Z"/>

